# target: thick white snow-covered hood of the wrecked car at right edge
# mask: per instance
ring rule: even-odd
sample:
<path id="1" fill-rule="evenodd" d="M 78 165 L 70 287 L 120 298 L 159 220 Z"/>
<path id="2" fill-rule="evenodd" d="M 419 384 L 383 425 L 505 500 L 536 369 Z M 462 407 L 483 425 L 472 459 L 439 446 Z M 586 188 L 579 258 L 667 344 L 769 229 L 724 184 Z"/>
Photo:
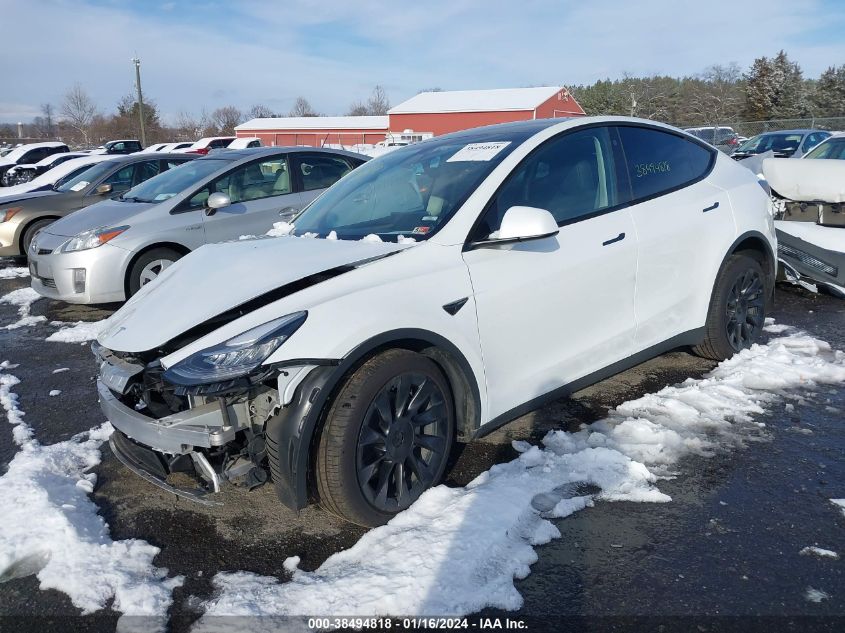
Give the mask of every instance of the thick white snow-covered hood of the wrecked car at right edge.
<path id="1" fill-rule="evenodd" d="M 767 158 L 763 175 L 784 198 L 799 202 L 845 202 L 845 161 Z"/>

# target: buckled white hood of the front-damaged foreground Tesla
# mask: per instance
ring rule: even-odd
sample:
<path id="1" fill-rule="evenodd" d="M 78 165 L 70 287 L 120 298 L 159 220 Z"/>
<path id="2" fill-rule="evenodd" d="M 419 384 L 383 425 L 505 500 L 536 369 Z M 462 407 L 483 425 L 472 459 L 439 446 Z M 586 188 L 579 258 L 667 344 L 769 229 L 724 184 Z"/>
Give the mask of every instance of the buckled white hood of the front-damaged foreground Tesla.
<path id="1" fill-rule="evenodd" d="M 306 237 L 207 244 L 144 286 L 109 318 L 97 340 L 121 352 L 158 349 L 248 301 L 252 300 L 251 309 L 256 309 L 262 297 L 266 302 L 281 298 L 283 294 L 276 295 L 288 284 L 409 246 L 413 245 Z M 291 292 L 301 289 L 299 285 L 290 288 Z"/>

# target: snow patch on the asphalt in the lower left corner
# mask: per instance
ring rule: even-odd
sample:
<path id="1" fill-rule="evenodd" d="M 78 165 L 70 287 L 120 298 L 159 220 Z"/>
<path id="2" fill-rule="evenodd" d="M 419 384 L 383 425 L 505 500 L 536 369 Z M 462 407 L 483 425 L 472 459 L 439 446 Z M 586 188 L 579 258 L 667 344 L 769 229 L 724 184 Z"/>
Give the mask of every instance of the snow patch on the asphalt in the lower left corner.
<path id="1" fill-rule="evenodd" d="M 20 451 L 0 477 L 0 582 L 36 574 L 41 589 L 70 597 L 83 613 L 110 605 L 125 615 L 149 616 L 144 630 L 164 630 L 172 591 L 181 577 L 155 567 L 159 549 L 144 541 L 112 541 L 106 522 L 88 498 L 100 463 L 108 422 L 70 440 L 41 445 L 24 422 L 20 380 L 0 363 L 0 404 Z M 121 630 L 120 624 L 118 630 Z"/>

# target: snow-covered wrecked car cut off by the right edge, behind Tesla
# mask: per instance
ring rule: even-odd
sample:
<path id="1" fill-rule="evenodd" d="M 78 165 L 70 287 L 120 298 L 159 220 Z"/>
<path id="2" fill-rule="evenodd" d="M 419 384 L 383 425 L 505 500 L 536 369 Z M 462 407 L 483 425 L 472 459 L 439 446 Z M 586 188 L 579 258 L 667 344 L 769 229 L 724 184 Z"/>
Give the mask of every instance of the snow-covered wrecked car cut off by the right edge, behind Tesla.
<path id="1" fill-rule="evenodd" d="M 826 143 L 831 144 L 819 146 L 825 156 L 845 146 L 845 137 Z M 845 160 L 767 158 L 763 175 L 778 203 L 775 227 L 783 277 L 845 298 Z"/>

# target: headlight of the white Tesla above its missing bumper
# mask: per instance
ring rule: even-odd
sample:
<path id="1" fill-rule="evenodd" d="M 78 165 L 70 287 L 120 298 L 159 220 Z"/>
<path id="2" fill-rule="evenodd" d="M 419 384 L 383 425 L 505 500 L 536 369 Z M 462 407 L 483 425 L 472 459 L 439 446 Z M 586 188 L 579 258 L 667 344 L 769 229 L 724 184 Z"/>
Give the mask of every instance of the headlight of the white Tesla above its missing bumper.
<path id="1" fill-rule="evenodd" d="M 307 312 L 294 312 L 195 352 L 165 371 L 164 379 L 176 385 L 201 385 L 250 374 L 299 329 L 307 316 Z"/>

